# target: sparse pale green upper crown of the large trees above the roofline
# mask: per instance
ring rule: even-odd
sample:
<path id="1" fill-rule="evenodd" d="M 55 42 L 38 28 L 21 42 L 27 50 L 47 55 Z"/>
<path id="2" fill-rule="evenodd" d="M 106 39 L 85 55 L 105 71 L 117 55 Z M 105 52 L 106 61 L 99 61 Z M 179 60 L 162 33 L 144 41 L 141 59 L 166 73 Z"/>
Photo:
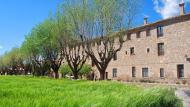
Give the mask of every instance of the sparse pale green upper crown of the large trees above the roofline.
<path id="1" fill-rule="evenodd" d="M 66 20 L 75 35 L 107 36 L 132 27 L 141 0 L 68 0 Z"/>

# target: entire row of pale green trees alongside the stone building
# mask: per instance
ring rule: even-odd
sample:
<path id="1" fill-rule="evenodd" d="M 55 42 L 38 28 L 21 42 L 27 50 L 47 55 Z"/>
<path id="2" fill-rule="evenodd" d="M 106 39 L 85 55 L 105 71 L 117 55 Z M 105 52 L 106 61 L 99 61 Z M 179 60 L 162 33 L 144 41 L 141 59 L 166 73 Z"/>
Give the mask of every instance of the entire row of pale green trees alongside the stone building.
<path id="1" fill-rule="evenodd" d="M 1 75 L 59 77 L 74 79 L 87 75 L 92 61 L 105 79 L 112 58 L 121 50 L 124 30 L 131 28 L 140 0 L 66 0 L 54 15 L 36 25 L 21 47 L 0 57 Z M 116 39 L 117 38 L 117 39 Z"/>

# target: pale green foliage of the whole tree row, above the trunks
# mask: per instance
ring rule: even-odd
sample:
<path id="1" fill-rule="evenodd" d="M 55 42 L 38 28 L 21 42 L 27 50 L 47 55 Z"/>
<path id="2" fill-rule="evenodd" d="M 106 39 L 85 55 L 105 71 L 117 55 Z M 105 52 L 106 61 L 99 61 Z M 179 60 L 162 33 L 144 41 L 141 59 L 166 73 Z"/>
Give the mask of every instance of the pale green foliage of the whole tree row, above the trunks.
<path id="1" fill-rule="evenodd" d="M 47 64 L 49 68 L 41 71 L 51 68 L 57 71 L 60 59 L 64 57 L 64 47 L 77 45 L 76 42 L 84 38 L 108 36 L 130 28 L 137 14 L 138 1 L 65 0 L 54 15 L 51 14 L 26 35 L 19 51 L 13 49 L 0 58 L 1 65 L 11 66 L 19 60 L 33 65 L 33 68 L 38 65 L 39 69 Z"/>

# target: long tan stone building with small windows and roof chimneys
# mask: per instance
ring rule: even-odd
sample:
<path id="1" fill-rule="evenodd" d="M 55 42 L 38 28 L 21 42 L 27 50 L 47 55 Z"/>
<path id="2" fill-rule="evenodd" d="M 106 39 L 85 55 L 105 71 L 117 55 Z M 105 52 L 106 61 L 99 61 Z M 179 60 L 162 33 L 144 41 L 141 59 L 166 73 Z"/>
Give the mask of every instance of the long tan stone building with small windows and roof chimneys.
<path id="1" fill-rule="evenodd" d="M 190 79 L 190 14 L 125 31 L 123 47 L 106 70 L 107 79 L 173 81 Z M 117 37 L 116 37 L 117 38 Z M 98 74 L 98 73 L 97 73 Z"/>

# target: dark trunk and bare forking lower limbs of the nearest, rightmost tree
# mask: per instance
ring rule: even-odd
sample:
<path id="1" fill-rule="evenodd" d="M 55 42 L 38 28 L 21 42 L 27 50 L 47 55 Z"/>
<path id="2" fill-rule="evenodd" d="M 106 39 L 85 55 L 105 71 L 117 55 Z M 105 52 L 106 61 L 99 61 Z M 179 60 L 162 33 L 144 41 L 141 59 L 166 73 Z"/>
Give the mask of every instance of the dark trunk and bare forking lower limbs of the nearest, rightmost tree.
<path id="1" fill-rule="evenodd" d="M 99 73 L 100 80 L 105 79 L 105 73 L 108 64 L 121 50 L 123 45 L 122 34 L 119 35 L 119 41 L 114 42 L 113 38 L 105 37 L 98 40 L 100 44 L 97 44 L 96 47 L 91 47 L 91 41 L 87 43 L 86 53 L 90 56 L 92 62 L 96 65 Z M 96 51 L 94 51 L 96 48 Z"/>

